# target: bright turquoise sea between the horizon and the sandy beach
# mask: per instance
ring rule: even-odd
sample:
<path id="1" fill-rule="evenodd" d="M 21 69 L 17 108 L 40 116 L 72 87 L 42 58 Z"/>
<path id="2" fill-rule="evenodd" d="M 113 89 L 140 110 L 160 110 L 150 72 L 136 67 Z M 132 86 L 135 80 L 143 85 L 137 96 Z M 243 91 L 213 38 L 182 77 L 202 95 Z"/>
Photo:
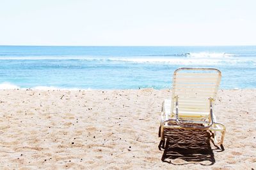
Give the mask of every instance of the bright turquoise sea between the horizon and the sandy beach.
<path id="1" fill-rule="evenodd" d="M 178 67 L 216 67 L 221 89 L 255 89 L 256 46 L 0 46 L 0 89 L 172 87 Z"/>

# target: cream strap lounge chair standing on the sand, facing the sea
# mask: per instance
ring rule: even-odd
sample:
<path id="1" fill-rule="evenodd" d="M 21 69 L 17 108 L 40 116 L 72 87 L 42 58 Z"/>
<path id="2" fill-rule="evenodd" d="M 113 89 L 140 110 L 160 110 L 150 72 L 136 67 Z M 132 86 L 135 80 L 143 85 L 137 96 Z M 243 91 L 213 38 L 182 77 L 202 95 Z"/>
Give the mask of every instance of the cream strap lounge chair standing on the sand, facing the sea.
<path id="1" fill-rule="evenodd" d="M 164 129 L 178 128 L 209 130 L 216 142 L 216 133 L 221 133 L 219 144 L 223 148 L 225 126 L 216 122 L 212 112 L 220 80 L 221 72 L 214 68 L 182 67 L 174 71 L 172 98 L 162 105 L 159 147 L 164 148 Z"/>

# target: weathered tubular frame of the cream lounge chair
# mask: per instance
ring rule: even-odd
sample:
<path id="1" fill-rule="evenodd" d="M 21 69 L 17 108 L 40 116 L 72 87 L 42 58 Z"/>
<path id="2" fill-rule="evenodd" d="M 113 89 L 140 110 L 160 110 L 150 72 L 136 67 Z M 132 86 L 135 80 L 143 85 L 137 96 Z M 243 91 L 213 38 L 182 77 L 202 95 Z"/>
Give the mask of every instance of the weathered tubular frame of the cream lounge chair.
<path id="1" fill-rule="evenodd" d="M 176 75 L 178 71 L 181 70 L 200 70 L 200 71 L 217 71 L 218 72 L 218 81 L 216 82 L 216 87 L 214 91 L 214 97 L 209 97 L 209 115 L 207 115 L 206 118 L 203 118 L 204 120 L 180 120 L 179 119 L 179 96 L 175 96 L 175 86 L 176 86 Z M 221 132 L 221 140 L 220 140 L 220 145 L 223 147 L 223 140 L 225 136 L 225 125 L 216 122 L 216 117 L 213 114 L 212 111 L 212 103 L 214 102 L 214 98 L 216 97 L 216 93 L 218 91 L 218 86 L 220 85 L 220 80 L 221 80 L 221 72 L 218 69 L 215 68 L 193 68 L 193 67 L 181 67 L 179 69 L 176 69 L 173 73 L 173 88 L 172 88 L 172 101 L 171 101 L 171 113 L 170 115 L 165 114 L 164 110 L 164 104 L 166 102 L 164 101 L 162 104 L 162 111 L 161 111 L 161 127 L 159 129 L 159 137 L 161 137 L 161 143 L 163 144 L 164 148 L 164 128 L 168 129 L 198 129 L 198 130 L 208 130 L 208 131 L 213 131 L 214 132 L 214 140 L 218 143 L 217 138 L 216 138 L 216 132 L 220 131 Z M 175 101 L 175 113 L 173 113 L 173 101 Z M 174 118 L 168 118 L 168 116 L 171 116 Z M 209 121 L 205 122 L 206 119 L 209 119 Z M 175 125 L 173 124 L 168 124 L 169 122 L 175 122 Z M 195 125 L 186 125 L 186 124 L 195 124 Z M 196 125 L 197 124 L 197 125 Z"/>

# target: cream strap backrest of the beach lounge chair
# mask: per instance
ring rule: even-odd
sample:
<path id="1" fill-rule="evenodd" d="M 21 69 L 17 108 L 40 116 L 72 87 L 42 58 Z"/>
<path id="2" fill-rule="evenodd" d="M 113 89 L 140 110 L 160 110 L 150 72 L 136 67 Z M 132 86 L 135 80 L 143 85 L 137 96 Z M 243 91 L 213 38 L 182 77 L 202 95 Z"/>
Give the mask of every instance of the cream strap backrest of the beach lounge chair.
<path id="1" fill-rule="evenodd" d="M 215 68 L 182 67 L 173 74 L 172 112 L 175 96 L 179 97 L 180 113 L 209 113 L 209 98 L 216 97 L 221 72 Z"/>

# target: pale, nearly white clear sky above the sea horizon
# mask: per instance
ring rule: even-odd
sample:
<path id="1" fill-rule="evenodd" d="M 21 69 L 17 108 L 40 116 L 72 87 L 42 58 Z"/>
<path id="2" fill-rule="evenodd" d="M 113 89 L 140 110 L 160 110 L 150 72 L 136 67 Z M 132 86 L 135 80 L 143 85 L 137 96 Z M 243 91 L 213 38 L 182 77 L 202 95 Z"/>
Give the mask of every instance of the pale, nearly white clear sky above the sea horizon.
<path id="1" fill-rule="evenodd" d="M 256 45 L 256 1 L 0 0 L 0 45 Z"/>

